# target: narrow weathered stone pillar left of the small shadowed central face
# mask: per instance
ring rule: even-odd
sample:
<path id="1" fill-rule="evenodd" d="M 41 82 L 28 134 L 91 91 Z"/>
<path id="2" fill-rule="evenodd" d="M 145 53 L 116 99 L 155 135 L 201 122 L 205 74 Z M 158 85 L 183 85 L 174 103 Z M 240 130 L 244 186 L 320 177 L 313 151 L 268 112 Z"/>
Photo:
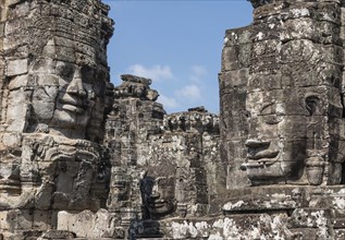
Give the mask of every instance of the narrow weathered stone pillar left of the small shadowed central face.
<path id="1" fill-rule="evenodd" d="M 121 226 L 130 229 L 143 215 L 139 166 L 149 157 L 148 137 L 161 131 L 165 111 L 156 103 L 158 93 L 149 87 L 151 80 L 130 74 L 121 77 L 123 83 L 114 88 L 115 99 L 106 125 L 104 143 L 112 165 L 107 205 Z"/>

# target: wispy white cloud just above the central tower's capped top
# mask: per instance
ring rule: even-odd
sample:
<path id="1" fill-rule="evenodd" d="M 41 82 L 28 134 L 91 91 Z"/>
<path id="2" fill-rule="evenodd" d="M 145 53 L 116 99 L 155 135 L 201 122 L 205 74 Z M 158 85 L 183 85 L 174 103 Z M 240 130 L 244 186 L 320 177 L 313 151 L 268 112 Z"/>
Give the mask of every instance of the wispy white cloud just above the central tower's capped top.
<path id="1" fill-rule="evenodd" d="M 169 65 L 153 65 L 146 68 L 141 64 L 134 64 L 128 68 L 131 74 L 151 79 L 153 81 L 170 80 L 173 73 Z"/>

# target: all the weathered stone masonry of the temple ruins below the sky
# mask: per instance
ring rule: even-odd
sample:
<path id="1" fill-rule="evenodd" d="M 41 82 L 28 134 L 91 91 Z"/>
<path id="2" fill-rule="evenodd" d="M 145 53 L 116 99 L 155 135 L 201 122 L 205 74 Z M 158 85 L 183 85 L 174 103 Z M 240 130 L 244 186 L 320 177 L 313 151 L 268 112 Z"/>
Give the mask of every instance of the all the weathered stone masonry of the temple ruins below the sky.
<path id="1" fill-rule="evenodd" d="M 100 0 L 0 1 L 0 239 L 344 239 L 345 3 L 250 2 L 218 116 L 113 86 Z"/>

